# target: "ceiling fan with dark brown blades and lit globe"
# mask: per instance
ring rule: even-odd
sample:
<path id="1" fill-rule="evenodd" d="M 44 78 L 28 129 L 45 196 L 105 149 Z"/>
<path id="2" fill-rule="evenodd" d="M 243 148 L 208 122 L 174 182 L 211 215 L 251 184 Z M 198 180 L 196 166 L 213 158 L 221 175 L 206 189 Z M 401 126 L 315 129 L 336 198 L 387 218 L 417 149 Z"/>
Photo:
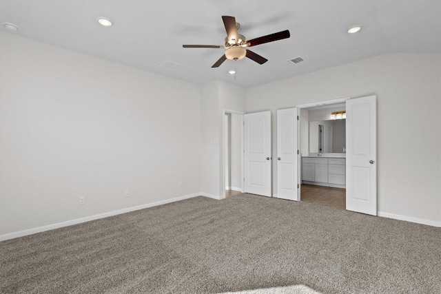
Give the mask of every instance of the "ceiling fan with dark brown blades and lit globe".
<path id="1" fill-rule="evenodd" d="M 278 41 L 282 39 L 289 38 L 289 30 L 284 30 L 282 32 L 276 32 L 274 34 L 268 34 L 267 36 L 260 36 L 259 38 L 247 41 L 245 36 L 238 34 L 238 29 L 240 24 L 236 23 L 234 17 L 222 17 L 223 24 L 225 25 L 225 30 L 227 30 L 227 37 L 225 38 L 225 45 L 182 45 L 183 48 L 220 48 L 227 49 L 225 54 L 212 67 L 219 67 L 225 60 L 240 60 L 245 56 L 256 63 L 263 64 L 268 61 L 264 57 L 252 52 L 251 50 L 245 49 L 252 46 L 269 43 L 273 41 Z"/>

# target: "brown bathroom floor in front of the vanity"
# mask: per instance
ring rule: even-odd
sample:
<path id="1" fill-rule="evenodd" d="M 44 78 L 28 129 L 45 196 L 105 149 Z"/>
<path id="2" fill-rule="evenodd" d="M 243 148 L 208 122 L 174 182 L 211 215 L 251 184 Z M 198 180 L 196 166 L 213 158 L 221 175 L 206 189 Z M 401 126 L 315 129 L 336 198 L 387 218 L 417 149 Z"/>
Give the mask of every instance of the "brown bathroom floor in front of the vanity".
<path id="1" fill-rule="evenodd" d="M 302 184 L 300 200 L 346 209 L 346 189 Z"/>

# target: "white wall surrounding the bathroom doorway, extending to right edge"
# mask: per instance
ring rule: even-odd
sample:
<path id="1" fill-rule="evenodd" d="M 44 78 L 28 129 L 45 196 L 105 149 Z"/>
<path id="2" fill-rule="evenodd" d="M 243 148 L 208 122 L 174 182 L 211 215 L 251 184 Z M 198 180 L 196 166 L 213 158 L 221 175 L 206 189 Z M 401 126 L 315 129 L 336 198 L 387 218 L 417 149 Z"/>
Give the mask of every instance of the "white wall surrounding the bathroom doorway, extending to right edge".
<path id="1" fill-rule="evenodd" d="M 271 109 L 275 151 L 276 109 L 376 94 L 378 211 L 440 223 L 440 55 L 385 54 L 253 87 L 247 111 Z"/>

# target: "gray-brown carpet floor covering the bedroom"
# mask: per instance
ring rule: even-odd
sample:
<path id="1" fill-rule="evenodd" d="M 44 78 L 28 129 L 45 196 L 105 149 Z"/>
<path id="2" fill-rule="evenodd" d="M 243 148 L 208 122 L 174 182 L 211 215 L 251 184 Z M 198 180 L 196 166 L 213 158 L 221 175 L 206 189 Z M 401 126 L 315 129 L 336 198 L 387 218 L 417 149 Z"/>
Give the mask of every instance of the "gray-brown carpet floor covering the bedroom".
<path id="1" fill-rule="evenodd" d="M 441 293 L 441 229 L 241 194 L 0 242 L 1 293 L 238 291 Z"/>

